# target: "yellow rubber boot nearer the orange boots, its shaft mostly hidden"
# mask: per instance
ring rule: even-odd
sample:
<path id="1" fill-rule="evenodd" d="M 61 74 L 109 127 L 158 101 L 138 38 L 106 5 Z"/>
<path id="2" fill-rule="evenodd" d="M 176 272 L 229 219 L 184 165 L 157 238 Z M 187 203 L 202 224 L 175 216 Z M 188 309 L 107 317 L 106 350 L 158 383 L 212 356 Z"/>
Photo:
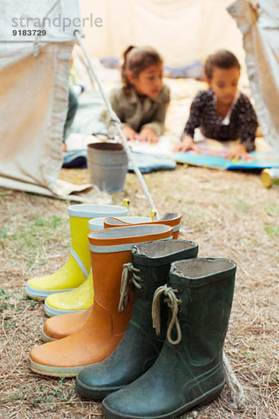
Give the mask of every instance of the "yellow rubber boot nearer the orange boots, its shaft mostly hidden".
<path id="1" fill-rule="evenodd" d="M 104 219 L 98 217 L 89 221 L 89 230 L 97 231 L 103 229 Z M 121 216 L 121 219 L 128 223 L 146 223 L 151 221 L 146 216 Z M 93 279 L 90 274 L 86 281 L 73 291 L 49 295 L 45 300 L 45 314 L 47 316 L 59 316 L 61 314 L 84 311 L 93 304 Z"/>

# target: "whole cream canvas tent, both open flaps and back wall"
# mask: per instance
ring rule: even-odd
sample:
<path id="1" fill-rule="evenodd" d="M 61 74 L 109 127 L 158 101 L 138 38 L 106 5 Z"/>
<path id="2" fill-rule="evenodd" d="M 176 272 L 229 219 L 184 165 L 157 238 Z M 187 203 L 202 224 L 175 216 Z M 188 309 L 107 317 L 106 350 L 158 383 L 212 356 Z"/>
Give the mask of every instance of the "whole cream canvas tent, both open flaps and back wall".
<path id="1" fill-rule="evenodd" d="M 169 66 L 186 66 L 220 47 L 232 50 L 243 66 L 246 61 L 264 137 L 278 149 L 279 4 L 237 0 L 229 13 L 239 31 L 226 10 L 230 2 L 81 0 L 80 15 L 77 0 L 1 1 L 0 185 L 71 192 L 73 185 L 57 179 L 75 29 L 84 29 L 96 57 L 121 57 L 127 45 L 149 44 Z"/>

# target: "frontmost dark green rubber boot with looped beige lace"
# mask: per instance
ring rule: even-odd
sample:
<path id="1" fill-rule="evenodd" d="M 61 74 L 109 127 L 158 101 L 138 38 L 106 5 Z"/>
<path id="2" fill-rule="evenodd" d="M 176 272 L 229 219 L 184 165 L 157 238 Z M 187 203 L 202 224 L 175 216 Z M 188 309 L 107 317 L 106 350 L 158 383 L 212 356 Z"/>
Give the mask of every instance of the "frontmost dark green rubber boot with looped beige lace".
<path id="1" fill-rule="evenodd" d="M 197 258 L 172 263 L 169 286 L 158 288 L 153 321 L 160 331 L 160 296 L 172 313 L 167 339 L 153 366 L 103 400 L 105 419 L 171 419 L 211 402 L 225 385 L 223 344 L 236 263 Z"/>

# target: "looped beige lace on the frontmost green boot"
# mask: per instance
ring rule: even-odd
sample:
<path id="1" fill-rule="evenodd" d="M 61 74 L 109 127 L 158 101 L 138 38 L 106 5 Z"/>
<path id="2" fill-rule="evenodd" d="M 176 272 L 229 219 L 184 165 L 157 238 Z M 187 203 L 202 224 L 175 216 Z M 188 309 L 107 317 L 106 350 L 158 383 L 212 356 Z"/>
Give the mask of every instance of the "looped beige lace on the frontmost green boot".
<path id="1" fill-rule="evenodd" d="M 167 340 L 172 345 L 177 345 L 181 341 L 181 328 L 177 318 L 177 313 L 179 312 L 179 306 L 181 305 L 181 300 L 176 297 L 176 293 L 179 290 L 173 289 L 171 286 L 160 286 L 154 293 L 153 303 L 152 303 L 152 319 L 153 319 L 153 328 L 156 330 L 156 335 L 160 335 L 160 297 L 165 295 L 166 298 L 164 302 L 167 303 L 167 307 L 172 310 L 172 320 L 169 322 L 167 328 Z M 172 329 L 176 328 L 177 338 L 172 339 L 171 333 Z"/>

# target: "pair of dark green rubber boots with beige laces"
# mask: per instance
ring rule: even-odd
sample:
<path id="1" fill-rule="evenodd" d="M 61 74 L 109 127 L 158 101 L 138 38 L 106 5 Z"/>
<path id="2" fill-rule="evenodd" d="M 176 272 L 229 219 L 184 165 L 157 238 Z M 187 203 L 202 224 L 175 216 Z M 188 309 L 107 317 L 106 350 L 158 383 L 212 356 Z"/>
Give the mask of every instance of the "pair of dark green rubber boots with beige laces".
<path id="1" fill-rule="evenodd" d="M 76 381 L 85 397 L 105 398 L 106 419 L 177 418 L 223 390 L 236 263 L 197 258 L 197 251 L 186 240 L 133 247 L 119 302 L 124 310 L 135 291 L 126 333 L 109 358 Z"/>

